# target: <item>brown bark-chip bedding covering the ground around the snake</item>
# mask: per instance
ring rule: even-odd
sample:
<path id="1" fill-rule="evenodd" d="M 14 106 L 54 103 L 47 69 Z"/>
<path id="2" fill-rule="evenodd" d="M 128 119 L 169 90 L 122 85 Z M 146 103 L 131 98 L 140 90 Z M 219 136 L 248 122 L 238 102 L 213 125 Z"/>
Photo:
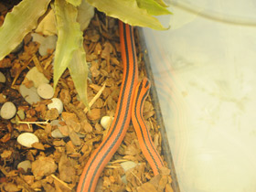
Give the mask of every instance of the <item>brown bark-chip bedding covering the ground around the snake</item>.
<path id="1" fill-rule="evenodd" d="M 3 24 L 8 11 L 5 5 L 1 7 L 0 25 Z M 137 34 L 135 30 L 141 80 L 146 74 Z M 27 71 L 35 66 L 52 84 L 54 50 L 49 49 L 48 55 L 41 57 L 38 54 L 39 46 L 28 34 L 24 38 L 23 48 L 0 61 L 0 71 L 6 77 L 6 82 L 0 83 L 0 107 L 5 101 L 12 101 L 17 110 L 26 114 L 23 123 L 18 123 L 21 121 L 18 115 L 12 120 L 0 119 L 1 191 L 75 191 L 84 165 L 108 132 L 108 129 L 101 126 L 101 117 L 113 116 L 115 112 L 123 76 L 116 19 L 96 12 L 90 26 L 84 31 L 84 48 L 90 67 L 89 101 L 105 84 L 100 97 L 92 104 L 91 112 L 86 112 L 85 106 L 79 101 L 68 70 L 62 75 L 54 93 L 54 97 L 59 98 L 64 104 L 64 111 L 61 114 L 56 110 L 48 110 L 50 100 L 42 99 L 30 105 L 20 95 L 18 89 L 22 83 L 27 87 L 33 85 L 25 76 Z M 144 119 L 161 154 L 161 134 L 150 96 L 144 104 Z M 59 120 L 59 130 L 67 137 L 51 136 L 51 132 L 57 128 L 56 125 L 50 124 L 53 120 Z M 25 132 L 35 133 L 39 143 L 31 148 L 18 144 L 17 136 Z M 79 137 L 77 133 L 83 134 L 84 137 Z M 32 168 L 27 172 L 22 168 L 17 169 L 18 163 L 24 160 L 32 163 Z M 121 164 L 127 161 L 133 161 L 137 165 L 124 172 Z M 123 144 L 104 168 L 96 191 L 173 191 L 170 186 L 172 179 L 169 170 L 166 168 L 162 172 L 161 175 L 154 176 L 142 154 L 131 123 Z M 126 183 L 123 183 L 123 176 L 126 177 Z"/>

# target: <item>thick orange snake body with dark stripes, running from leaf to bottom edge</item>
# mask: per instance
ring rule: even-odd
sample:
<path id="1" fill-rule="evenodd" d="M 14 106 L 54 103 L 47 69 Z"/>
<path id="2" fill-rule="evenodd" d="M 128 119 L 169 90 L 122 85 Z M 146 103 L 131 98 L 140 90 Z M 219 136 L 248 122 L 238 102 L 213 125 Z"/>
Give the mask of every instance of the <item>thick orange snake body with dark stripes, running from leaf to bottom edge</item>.
<path id="1" fill-rule="evenodd" d="M 133 39 L 133 27 L 119 22 L 123 59 L 123 81 L 111 128 L 100 146 L 91 155 L 80 176 L 78 192 L 94 191 L 104 166 L 123 141 L 131 122 L 133 95 L 138 83 L 138 67 Z"/>

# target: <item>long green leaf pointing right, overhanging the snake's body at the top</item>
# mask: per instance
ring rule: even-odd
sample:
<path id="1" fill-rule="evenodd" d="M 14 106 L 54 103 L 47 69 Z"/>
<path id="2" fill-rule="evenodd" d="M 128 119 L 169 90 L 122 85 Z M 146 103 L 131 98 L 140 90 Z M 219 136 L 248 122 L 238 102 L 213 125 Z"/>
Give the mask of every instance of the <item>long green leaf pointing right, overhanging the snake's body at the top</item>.
<path id="1" fill-rule="evenodd" d="M 132 26 L 151 27 L 157 30 L 167 29 L 154 16 L 137 5 L 136 0 L 87 0 L 107 16 L 119 18 Z"/>

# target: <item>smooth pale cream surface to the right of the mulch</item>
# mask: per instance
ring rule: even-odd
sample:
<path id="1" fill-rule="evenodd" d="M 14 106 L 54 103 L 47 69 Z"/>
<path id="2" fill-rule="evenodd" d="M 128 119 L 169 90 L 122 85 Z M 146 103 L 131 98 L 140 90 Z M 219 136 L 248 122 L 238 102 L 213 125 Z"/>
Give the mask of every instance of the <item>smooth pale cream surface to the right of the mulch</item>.
<path id="1" fill-rule="evenodd" d="M 191 8 L 256 21 L 254 0 Z M 256 191 L 256 27 L 171 5 L 168 31 L 144 29 L 182 192 Z"/>

